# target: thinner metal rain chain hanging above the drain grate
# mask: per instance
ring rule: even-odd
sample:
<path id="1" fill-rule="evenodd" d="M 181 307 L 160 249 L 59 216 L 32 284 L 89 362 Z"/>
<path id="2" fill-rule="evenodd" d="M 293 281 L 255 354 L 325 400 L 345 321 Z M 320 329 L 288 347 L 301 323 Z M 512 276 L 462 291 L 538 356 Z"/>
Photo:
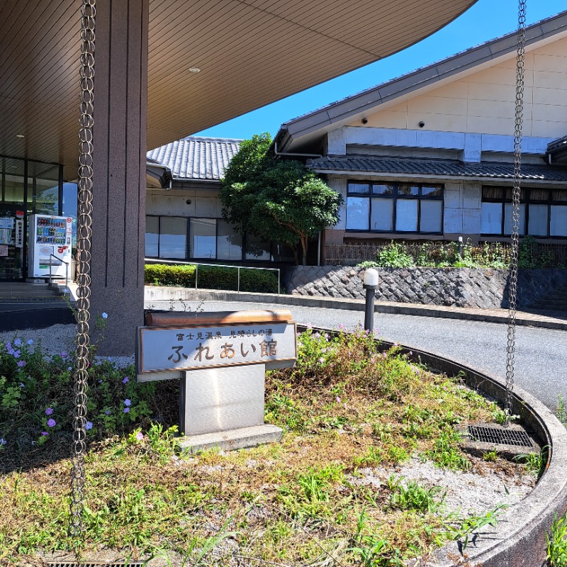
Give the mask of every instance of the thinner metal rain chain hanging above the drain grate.
<path id="1" fill-rule="evenodd" d="M 520 176 L 522 173 L 522 121 L 524 118 L 524 49 L 526 46 L 526 0 L 518 2 L 518 49 L 516 58 L 516 121 L 514 129 L 514 188 L 512 189 L 512 250 L 508 297 L 508 342 L 506 357 L 506 400 L 504 426 L 510 425 L 514 390 L 516 343 L 516 298 L 518 283 L 518 232 L 520 229 Z"/>

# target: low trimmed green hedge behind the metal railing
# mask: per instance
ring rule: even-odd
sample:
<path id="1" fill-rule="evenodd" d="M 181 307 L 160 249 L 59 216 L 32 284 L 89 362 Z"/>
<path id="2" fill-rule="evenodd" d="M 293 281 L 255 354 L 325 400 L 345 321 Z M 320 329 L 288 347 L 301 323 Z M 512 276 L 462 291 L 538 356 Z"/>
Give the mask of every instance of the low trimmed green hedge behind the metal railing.
<path id="1" fill-rule="evenodd" d="M 154 286 L 194 288 L 196 266 L 184 264 L 146 264 L 145 283 Z M 238 270 L 224 266 L 199 266 L 198 287 L 203 289 L 238 289 Z M 278 293 L 278 276 L 275 271 L 240 268 L 240 291 Z"/>

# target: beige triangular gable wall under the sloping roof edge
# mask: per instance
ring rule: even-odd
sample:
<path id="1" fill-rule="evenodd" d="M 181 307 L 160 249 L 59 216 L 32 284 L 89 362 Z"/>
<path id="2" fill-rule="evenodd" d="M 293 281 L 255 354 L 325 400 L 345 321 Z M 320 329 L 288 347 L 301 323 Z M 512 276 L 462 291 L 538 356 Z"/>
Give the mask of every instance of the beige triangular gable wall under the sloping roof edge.
<path id="1" fill-rule="evenodd" d="M 515 120 L 515 54 L 493 67 L 366 116 L 366 127 L 510 135 Z M 567 38 L 525 57 L 524 135 L 567 133 Z M 352 126 L 361 126 L 360 120 Z"/>

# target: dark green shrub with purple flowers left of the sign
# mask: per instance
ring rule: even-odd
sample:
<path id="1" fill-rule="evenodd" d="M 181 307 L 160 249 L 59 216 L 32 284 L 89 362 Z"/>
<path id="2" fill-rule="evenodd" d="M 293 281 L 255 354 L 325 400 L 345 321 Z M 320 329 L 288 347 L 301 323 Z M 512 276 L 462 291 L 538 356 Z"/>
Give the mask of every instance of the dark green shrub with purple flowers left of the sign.
<path id="1" fill-rule="evenodd" d="M 0 452 L 69 437 L 74 366 L 74 353 L 47 356 L 40 344 L 18 337 L 6 344 L 0 342 Z M 91 362 L 86 414 L 89 440 L 148 425 L 152 416 L 163 419 L 164 410 L 169 411 L 167 421 L 175 422 L 176 396 L 171 386 L 136 383 L 133 365 L 117 368 L 102 358 Z"/>

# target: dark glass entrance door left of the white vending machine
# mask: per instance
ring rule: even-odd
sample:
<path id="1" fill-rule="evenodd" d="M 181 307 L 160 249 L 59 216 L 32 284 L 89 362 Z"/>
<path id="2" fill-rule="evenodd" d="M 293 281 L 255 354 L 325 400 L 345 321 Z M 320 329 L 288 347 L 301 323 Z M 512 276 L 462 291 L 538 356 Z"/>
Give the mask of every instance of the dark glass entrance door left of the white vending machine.
<path id="1" fill-rule="evenodd" d="M 23 281 L 26 225 L 23 207 L 0 204 L 0 281 Z"/>

